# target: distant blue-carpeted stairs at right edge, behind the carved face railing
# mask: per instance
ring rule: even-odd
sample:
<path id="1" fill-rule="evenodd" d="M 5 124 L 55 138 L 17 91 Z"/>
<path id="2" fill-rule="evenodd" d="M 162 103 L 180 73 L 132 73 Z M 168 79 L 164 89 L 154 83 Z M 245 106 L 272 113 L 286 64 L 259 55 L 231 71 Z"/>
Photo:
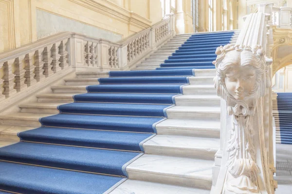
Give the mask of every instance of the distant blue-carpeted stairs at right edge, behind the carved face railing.
<path id="1" fill-rule="evenodd" d="M 292 93 L 277 93 L 277 99 L 273 100 L 273 116 L 276 143 L 292 144 Z"/>

